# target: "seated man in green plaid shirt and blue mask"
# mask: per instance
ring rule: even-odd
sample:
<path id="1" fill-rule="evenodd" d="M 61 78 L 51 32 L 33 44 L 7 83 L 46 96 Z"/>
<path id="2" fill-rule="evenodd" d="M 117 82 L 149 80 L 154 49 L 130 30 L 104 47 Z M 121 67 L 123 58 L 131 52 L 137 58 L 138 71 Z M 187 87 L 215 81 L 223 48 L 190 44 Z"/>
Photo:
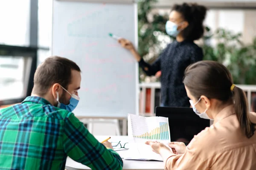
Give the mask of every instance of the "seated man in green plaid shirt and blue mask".
<path id="1" fill-rule="evenodd" d="M 98 142 L 72 113 L 80 83 L 69 59 L 49 57 L 37 68 L 32 95 L 0 110 L 0 170 L 64 170 L 67 156 L 93 170 L 122 169 L 111 143 Z"/>

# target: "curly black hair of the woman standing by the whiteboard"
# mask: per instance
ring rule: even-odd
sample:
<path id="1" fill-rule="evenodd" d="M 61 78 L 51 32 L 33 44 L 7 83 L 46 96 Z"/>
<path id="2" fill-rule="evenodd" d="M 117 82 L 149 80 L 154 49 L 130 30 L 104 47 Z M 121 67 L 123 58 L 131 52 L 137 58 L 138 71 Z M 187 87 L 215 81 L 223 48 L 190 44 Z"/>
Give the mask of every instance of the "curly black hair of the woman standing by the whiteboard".
<path id="1" fill-rule="evenodd" d="M 207 8 L 196 3 L 175 4 L 172 11 L 179 12 L 184 20 L 189 23 L 181 35 L 185 40 L 198 40 L 204 35 L 203 22 L 206 17 Z"/>

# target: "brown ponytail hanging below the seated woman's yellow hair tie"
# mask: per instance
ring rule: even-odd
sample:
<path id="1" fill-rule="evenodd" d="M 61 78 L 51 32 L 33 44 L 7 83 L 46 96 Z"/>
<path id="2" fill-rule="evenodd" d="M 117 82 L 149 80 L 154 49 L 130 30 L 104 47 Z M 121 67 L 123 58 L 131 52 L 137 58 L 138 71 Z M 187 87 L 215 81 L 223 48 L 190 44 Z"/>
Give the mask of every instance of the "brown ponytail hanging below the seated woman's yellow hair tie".
<path id="1" fill-rule="evenodd" d="M 247 97 L 244 91 L 239 87 L 235 87 L 233 93 L 236 116 L 239 121 L 241 130 L 247 138 L 250 138 L 254 134 L 255 124 L 253 124 L 249 118 L 250 113 L 248 109 Z"/>

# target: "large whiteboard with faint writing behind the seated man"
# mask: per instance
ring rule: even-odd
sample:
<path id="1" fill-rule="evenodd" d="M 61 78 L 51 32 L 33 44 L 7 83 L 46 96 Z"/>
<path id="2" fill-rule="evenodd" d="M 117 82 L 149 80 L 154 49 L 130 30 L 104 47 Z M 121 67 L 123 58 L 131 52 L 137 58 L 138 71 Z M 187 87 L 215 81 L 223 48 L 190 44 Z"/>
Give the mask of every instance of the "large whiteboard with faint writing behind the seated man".
<path id="1" fill-rule="evenodd" d="M 76 116 L 138 114 L 137 61 L 108 33 L 137 46 L 137 5 L 53 0 L 52 55 L 81 68 Z"/>

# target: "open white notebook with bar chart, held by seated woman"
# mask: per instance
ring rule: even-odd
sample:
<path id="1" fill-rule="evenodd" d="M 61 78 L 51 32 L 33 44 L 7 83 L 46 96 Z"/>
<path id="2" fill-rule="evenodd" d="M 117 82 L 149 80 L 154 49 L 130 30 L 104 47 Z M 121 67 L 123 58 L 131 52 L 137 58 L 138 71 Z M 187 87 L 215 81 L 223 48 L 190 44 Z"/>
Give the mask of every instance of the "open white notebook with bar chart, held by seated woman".
<path id="1" fill-rule="evenodd" d="M 128 137 L 130 149 L 124 159 L 163 161 L 145 142 L 157 141 L 168 146 L 171 142 L 168 118 L 128 114 Z"/>

